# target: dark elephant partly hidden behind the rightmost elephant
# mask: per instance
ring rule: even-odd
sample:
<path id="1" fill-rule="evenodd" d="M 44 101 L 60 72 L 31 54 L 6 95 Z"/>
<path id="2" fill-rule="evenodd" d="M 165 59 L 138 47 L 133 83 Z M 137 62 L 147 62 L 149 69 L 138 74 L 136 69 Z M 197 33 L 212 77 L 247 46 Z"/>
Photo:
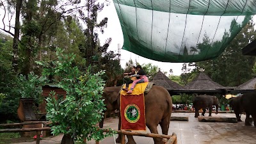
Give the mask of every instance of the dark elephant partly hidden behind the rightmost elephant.
<path id="1" fill-rule="evenodd" d="M 242 122 L 241 120 L 241 113 L 242 113 L 242 108 L 241 108 L 241 95 L 238 97 L 233 97 L 229 99 L 229 105 L 230 107 L 234 110 L 237 118 L 237 122 Z"/>

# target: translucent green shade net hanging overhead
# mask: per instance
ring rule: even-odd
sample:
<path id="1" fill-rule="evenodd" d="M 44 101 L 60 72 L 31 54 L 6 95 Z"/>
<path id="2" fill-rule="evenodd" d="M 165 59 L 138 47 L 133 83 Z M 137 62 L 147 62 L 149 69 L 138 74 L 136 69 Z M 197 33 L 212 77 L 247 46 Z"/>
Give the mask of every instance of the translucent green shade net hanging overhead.
<path id="1" fill-rule="evenodd" d="M 164 62 L 216 58 L 256 13 L 255 0 L 113 0 L 122 49 Z"/>

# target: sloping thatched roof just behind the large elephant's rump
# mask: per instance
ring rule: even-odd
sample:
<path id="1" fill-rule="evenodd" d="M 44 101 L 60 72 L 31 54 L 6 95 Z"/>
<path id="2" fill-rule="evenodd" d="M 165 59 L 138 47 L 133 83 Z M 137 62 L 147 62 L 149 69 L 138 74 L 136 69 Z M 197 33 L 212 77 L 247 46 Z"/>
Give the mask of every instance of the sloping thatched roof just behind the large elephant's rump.
<path id="1" fill-rule="evenodd" d="M 166 88 L 166 90 L 182 89 L 182 86 L 180 86 L 180 84 L 173 82 L 160 70 L 157 72 L 156 76 L 151 82 L 156 84 L 157 86 L 163 86 L 164 88 Z"/>

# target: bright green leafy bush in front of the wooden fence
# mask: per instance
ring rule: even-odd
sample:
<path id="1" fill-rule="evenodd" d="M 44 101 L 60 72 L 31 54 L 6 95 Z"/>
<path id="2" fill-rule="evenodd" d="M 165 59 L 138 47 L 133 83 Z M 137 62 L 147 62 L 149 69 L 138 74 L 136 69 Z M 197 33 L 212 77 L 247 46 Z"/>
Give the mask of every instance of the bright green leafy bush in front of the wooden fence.
<path id="1" fill-rule="evenodd" d="M 103 117 L 106 109 L 102 98 L 104 81 L 102 75 L 104 71 L 91 74 L 90 67 L 86 72 L 81 72 L 79 68 L 72 67 L 74 54 L 63 54 L 57 50 L 57 61 L 52 62 L 52 67 L 48 65 L 44 74 L 54 74 L 61 77 L 58 86 L 67 92 L 65 99 L 56 100 L 55 92 L 50 93 L 47 100 L 47 120 L 58 123 L 52 126 L 53 134 L 64 133 L 72 136 L 76 141 L 102 140 L 109 136 L 96 126 Z M 83 74 L 84 73 L 84 74 Z"/>

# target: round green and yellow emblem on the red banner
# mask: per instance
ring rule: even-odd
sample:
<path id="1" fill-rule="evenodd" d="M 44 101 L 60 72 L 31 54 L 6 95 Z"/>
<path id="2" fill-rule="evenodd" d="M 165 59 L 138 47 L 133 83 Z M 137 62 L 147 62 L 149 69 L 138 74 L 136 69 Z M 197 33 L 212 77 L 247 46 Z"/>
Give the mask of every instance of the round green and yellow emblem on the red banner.
<path id="1" fill-rule="evenodd" d="M 136 123 L 140 119 L 140 108 L 136 104 L 128 104 L 124 109 L 125 119 L 130 123 Z"/>

